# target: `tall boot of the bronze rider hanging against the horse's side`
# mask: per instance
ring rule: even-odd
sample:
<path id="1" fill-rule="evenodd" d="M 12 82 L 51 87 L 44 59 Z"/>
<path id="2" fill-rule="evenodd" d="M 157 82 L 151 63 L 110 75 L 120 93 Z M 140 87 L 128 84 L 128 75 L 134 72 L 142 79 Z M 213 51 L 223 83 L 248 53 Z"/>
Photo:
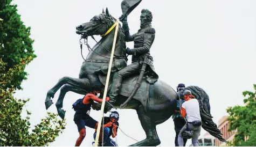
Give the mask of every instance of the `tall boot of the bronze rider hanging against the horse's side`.
<path id="1" fill-rule="evenodd" d="M 109 101 L 106 102 L 106 107 L 110 111 L 114 106 L 117 95 L 121 91 L 122 78 L 119 76 L 118 72 L 113 75 L 113 83 L 110 87 Z"/>

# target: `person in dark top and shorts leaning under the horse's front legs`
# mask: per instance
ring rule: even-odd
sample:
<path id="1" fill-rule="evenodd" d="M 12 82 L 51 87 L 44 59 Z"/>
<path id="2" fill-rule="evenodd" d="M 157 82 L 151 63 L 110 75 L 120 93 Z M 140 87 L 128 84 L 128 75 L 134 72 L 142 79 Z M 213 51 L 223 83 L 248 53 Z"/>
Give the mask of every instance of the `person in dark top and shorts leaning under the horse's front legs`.
<path id="1" fill-rule="evenodd" d="M 75 146 L 80 146 L 82 141 L 86 136 L 85 126 L 89 128 L 95 129 L 98 126 L 98 121 L 94 120 L 91 116 L 89 116 L 89 111 L 91 110 L 93 101 L 102 102 L 102 99 L 99 99 L 100 92 L 93 91 L 92 93 L 88 93 L 84 98 L 78 99 L 72 105 L 75 111 L 74 122 L 77 124 L 79 137 L 77 142 L 75 142 Z M 108 101 L 109 98 L 106 98 Z"/>

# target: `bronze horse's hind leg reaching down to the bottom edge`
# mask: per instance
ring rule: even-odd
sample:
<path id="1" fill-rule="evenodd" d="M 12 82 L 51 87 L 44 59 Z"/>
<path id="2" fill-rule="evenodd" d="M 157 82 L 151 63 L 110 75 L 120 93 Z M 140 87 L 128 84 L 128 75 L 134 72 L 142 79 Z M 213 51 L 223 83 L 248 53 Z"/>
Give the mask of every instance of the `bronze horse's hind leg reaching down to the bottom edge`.
<path id="1" fill-rule="evenodd" d="M 157 136 L 156 125 L 151 121 L 150 117 L 144 111 L 144 107 L 142 105 L 137 109 L 137 114 L 141 121 L 141 126 L 144 129 L 147 138 L 143 141 L 137 142 L 130 146 L 156 146 L 159 145 L 160 139 Z"/>

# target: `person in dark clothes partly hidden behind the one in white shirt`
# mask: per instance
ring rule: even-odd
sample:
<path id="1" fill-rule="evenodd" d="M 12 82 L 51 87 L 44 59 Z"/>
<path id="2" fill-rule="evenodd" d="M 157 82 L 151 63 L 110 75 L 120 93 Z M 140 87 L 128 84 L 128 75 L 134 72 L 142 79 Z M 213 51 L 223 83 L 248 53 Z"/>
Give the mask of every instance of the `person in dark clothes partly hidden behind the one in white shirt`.
<path id="1" fill-rule="evenodd" d="M 185 88 L 185 84 L 178 84 L 177 86 L 177 92 L 183 90 Z M 181 108 L 181 105 L 183 104 L 183 102 L 185 102 L 185 100 L 179 99 L 177 100 L 177 111 L 175 111 L 175 114 L 172 115 L 172 119 L 174 119 L 174 129 L 175 129 L 175 146 L 179 146 L 178 145 L 178 134 L 179 131 L 181 131 L 182 127 L 186 124 L 186 121 L 184 120 L 184 117 L 181 116 L 181 114 L 179 113 L 179 109 Z M 184 146 L 186 146 L 186 141 L 188 139 L 183 138 L 183 143 Z"/>

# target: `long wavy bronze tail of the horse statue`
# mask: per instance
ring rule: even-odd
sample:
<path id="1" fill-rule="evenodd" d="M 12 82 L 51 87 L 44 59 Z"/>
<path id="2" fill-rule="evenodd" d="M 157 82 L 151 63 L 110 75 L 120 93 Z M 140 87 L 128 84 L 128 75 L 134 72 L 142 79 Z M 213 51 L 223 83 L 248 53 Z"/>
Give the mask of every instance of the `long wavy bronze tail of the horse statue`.
<path id="1" fill-rule="evenodd" d="M 217 124 L 214 123 L 212 120 L 213 117 L 210 113 L 210 102 L 208 94 L 198 86 L 188 86 L 185 87 L 184 90 L 186 89 L 190 90 L 192 92 L 192 95 L 194 95 L 199 102 L 203 129 L 209 132 L 212 136 L 218 138 L 220 141 L 226 142 L 226 140 L 221 136 L 223 134 L 217 128 Z M 180 94 L 180 96 L 182 97 L 182 93 L 184 90 L 182 90 Z"/>

